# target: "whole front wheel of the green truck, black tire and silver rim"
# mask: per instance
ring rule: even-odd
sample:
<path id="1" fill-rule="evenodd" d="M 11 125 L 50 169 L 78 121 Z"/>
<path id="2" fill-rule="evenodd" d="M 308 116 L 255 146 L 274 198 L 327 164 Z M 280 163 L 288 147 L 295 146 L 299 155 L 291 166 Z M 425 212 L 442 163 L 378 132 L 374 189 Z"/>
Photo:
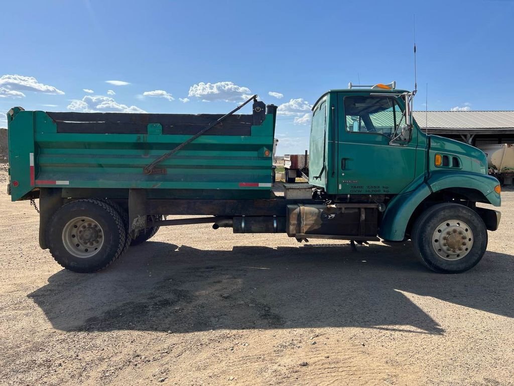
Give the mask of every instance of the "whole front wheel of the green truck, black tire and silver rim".
<path id="1" fill-rule="evenodd" d="M 474 210 L 443 203 L 421 213 L 414 223 L 412 241 L 428 268 L 458 273 L 473 268 L 484 256 L 487 229 Z"/>

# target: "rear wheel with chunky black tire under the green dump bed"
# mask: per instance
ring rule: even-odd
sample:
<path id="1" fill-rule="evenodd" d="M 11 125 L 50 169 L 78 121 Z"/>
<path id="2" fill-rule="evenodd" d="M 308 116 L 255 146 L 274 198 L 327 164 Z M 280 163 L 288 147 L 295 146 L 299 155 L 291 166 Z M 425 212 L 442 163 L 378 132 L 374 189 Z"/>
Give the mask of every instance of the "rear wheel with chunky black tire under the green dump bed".
<path id="1" fill-rule="evenodd" d="M 107 203 L 84 199 L 63 205 L 50 219 L 46 241 L 53 258 L 75 272 L 107 267 L 124 251 L 123 220 Z"/>

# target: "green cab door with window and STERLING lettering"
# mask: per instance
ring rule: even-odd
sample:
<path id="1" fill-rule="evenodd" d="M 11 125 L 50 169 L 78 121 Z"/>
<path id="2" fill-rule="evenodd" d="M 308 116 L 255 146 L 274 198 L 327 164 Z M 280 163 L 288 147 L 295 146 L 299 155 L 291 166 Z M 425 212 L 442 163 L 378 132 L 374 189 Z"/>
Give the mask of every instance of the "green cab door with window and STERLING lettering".
<path id="1" fill-rule="evenodd" d="M 414 180 L 417 132 L 390 143 L 398 125 L 405 114 L 397 96 L 339 93 L 338 194 L 397 194 Z"/>

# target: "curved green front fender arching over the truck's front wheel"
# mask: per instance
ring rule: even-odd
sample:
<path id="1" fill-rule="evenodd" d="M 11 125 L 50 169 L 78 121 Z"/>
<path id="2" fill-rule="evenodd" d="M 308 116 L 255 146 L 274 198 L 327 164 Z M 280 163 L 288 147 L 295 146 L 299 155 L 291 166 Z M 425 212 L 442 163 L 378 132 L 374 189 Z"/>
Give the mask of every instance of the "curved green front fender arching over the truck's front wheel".
<path id="1" fill-rule="evenodd" d="M 489 204 L 500 206 L 501 198 L 494 187 L 497 179 L 486 174 L 465 171 L 436 171 L 427 181 L 416 180 L 395 196 L 388 204 L 382 217 L 378 236 L 384 240 L 401 241 L 409 220 L 418 205 L 432 193 L 448 188 L 468 188 L 480 191 Z"/>

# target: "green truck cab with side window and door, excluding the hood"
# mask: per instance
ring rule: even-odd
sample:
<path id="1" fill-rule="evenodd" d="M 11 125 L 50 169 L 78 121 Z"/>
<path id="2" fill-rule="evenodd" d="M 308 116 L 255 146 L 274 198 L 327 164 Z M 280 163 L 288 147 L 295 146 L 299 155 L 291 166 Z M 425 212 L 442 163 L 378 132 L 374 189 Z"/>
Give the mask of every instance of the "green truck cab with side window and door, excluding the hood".
<path id="1" fill-rule="evenodd" d="M 323 95 L 313 108 L 309 182 L 329 195 L 390 195 L 423 174 L 427 136 L 407 126 L 403 93 L 348 89 Z"/>

